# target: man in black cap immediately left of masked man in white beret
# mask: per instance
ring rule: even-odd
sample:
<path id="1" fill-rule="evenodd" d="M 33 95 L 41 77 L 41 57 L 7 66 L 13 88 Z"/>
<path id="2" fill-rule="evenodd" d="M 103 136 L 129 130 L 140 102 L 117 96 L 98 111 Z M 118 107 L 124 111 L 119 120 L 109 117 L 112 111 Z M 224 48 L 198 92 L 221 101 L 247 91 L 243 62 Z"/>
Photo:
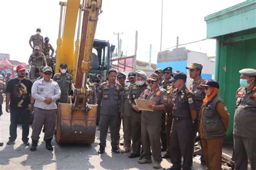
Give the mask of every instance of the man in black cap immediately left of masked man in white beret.
<path id="1" fill-rule="evenodd" d="M 122 149 L 122 153 L 127 153 L 131 151 L 131 116 L 132 116 L 132 107 L 128 103 L 128 96 L 131 88 L 136 85 L 136 73 L 130 72 L 128 74 L 128 79 L 130 84 L 124 87 L 124 93 L 121 100 L 120 112 L 121 117 L 123 118 L 123 128 L 124 128 L 124 148 Z"/>

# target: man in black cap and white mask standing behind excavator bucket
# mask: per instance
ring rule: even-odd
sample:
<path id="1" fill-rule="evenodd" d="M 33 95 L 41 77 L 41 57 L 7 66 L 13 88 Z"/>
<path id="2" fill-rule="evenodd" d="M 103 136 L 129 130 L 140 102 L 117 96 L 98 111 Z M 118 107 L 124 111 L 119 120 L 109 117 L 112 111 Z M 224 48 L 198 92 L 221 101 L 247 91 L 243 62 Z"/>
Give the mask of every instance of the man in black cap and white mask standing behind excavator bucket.
<path id="1" fill-rule="evenodd" d="M 71 92 L 71 85 L 73 83 L 72 75 L 66 72 L 67 68 L 68 65 L 66 63 L 60 64 L 60 72 L 56 73 L 52 78 L 58 83 L 60 91 L 62 91 L 59 100 L 57 100 L 60 103 L 68 103 L 69 93 Z"/>

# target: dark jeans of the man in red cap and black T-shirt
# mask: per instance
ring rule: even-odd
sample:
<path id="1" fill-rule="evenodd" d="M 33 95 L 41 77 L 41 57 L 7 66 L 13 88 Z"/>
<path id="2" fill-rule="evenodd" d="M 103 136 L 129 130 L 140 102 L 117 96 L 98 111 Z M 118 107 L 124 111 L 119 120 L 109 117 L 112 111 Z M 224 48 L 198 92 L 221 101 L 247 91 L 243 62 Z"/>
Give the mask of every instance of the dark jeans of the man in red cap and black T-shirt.
<path id="1" fill-rule="evenodd" d="M 17 138 L 17 125 L 21 117 L 22 120 L 22 141 L 29 141 L 29 110 L 26 108 L 11 108 L 11 124 L 9 140 L 15 141 Z"/>

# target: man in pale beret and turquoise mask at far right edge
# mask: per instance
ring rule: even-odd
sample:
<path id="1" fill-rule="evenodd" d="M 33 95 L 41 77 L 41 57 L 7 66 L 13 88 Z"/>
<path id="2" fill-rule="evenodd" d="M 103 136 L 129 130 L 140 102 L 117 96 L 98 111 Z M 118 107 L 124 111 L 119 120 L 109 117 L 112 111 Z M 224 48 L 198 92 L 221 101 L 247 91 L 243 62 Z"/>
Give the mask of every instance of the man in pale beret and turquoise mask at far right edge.
<path id="1" fill-rule="evenodd" d="M 234 114 L 234 154 L 235 169 L 247 169 L 248 159 L 251 169 L 256 169 L 256 70 L 239 71 L 240 87 L 236 95 Z"/>

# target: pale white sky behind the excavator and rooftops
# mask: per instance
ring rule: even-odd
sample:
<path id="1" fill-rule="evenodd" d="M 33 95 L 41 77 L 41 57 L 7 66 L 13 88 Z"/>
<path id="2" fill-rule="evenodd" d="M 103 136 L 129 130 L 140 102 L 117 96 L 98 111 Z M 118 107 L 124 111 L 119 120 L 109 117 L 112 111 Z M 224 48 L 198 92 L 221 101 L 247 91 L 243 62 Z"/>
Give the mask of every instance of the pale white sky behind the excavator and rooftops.
<path id="1" fill-rule="evenodd" d="M 82 1 L 82 0 L 81 0 Z M 162 51 L 169 47 L 206 38 L 204 17 L 245 0 L 163 0 Z M 123 32 L 122 51 L 134 55 L 135 32 L 138 31 L 137 60 L 149 62 L 152 44 L 152 63 L 157 63 L 160 51 L 161 0 L 103 0 L 95 38 L 116 45 L 117 35 Z M 0 53 L 9 53 L 11 60 L 28 63 L 32 49 L 29 38 L 41 28 L 43 37 L 50 38 L 56 49 L 60 5 L 59 0 L 0 1 Z M 185 45 L 186 49 L 215 56 L 215 40 Z"/>

